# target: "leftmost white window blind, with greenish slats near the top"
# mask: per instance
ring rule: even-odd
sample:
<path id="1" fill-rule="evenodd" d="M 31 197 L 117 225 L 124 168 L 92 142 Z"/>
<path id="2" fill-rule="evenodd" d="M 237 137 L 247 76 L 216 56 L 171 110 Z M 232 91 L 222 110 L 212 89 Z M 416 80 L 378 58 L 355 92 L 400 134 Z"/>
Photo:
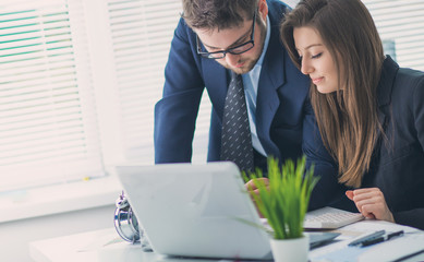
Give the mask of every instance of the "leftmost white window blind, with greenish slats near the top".
<path id="1" fill-rule="evenodd" d="M 0 2 L 0 191 L 101 176 L 80 1 Z"/>

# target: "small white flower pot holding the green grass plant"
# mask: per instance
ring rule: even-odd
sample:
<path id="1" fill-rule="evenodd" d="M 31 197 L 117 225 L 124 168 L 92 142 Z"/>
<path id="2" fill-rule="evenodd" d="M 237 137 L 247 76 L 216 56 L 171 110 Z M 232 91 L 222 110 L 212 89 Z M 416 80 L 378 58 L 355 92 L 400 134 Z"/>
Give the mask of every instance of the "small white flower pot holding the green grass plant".
<path id="1" fill-rule="evenodd" d="M 307 236 L 294 239 L 271 239 L 270 245 L 276 262 L 307 262 L 310 251 Z"/>

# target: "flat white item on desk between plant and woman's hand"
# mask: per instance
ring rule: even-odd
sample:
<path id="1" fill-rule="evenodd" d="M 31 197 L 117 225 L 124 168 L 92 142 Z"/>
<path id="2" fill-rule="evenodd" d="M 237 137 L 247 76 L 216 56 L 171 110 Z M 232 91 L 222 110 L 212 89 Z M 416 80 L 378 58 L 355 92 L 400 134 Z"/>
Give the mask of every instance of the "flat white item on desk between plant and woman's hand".
<path id="1" fill-rule="evenodd" d="M 352 213 L 326 206 L 324 209 L 307 212 L 303 227 L 335 229 L 362 219 L 364 219 L 364 217 L 361 213 Z"/>

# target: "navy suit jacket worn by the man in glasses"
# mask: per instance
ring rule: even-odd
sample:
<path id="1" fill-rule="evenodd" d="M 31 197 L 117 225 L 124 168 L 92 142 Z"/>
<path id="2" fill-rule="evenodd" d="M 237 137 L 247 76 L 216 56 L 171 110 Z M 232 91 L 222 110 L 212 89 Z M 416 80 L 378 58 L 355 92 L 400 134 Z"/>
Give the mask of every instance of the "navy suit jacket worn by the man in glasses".
<path id="1" fill-rule="evenodd" d="M 264 58 L 256 104 L 257 134 L 265 152 L 279 158 L 301 155 L 308 80 L 293 66 L 280 40 L 287 7 L 268 1 L 271 36 Z M 221 120 L 228 90 L 227 70 L 196 53 L 196 37 L 181 19 L 165 71 L 163 98 L 155 108 L 155 159 L 190 162 L 202 93 L 213 104 L 208 160 L 219 160 Z"/>

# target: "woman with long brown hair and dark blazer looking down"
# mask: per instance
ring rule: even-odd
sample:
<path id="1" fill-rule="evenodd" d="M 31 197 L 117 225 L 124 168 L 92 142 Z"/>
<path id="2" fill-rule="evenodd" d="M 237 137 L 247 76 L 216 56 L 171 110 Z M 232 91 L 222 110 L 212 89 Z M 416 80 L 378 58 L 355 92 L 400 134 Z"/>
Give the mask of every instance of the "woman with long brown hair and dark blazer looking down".
<path id="1" fill-rule="evenodd" d="M 424 229 L 424 72 L 384 56 L 360 0 L 300 1 L 281 37 L 312 80 L 322 141 L 310 140 L 308 160 L 332 166 L 364 216 Z M 320 143 L 329 159 L 313 153 Z"/>

